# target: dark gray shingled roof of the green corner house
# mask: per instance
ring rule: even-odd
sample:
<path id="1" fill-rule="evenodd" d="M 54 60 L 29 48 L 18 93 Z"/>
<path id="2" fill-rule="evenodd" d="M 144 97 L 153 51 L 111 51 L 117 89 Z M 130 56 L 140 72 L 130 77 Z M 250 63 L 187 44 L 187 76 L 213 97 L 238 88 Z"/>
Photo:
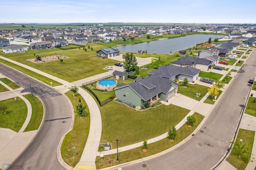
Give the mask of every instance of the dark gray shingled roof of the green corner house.
<path id="1" fill-rule="evenodd" d="M 135 80 L 129 84 L 120 84 L 119 87 L 116 89 L 120 89 L 122 87 L 129 86 L 133 89 L 144 101 L 154 97 L 155 95 L 163 92 L 168 93 L 171 89 L 173 81 L 163 78 L 159 75 L 150 75 L 148 77 L 141 78 L 139 80 Z M 150 86 L 154 89 L 148 88 L 146 86 Z M 150 90 L 151 89 L 151 90 Z"/>

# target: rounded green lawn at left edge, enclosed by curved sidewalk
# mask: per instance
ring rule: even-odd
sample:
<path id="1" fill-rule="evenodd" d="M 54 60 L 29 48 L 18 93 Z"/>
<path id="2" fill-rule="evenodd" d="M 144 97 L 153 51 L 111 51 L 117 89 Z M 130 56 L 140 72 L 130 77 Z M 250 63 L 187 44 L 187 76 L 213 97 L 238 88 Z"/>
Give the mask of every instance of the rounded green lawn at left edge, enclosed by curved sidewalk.
<path id="1" fill-rule="evenodd" d="M 4 114 L 4 111 L 0 111 L 0 127 L 10 128 L 18 132 L 26 120 L 28 108 L 20 97 L 16 97 L 16 99 L 11 98 L 0 101 L 0 106 L 6 105 L 8 107 L 6 114 Z"/>

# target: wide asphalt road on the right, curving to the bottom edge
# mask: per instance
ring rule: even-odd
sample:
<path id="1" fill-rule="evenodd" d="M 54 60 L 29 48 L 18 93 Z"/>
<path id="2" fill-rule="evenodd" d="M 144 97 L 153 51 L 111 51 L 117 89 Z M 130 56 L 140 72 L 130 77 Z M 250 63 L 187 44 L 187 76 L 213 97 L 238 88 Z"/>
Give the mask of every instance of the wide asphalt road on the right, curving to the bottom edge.
<path id="1" fill-rule="evenodd" d="M 249 79 L 256 72 L 256 50 L 247 59 L 216 104 L 212 113 L 190 140 L 180 147 L 151 160 L 122 167 L 122 170 L 208 170 L 226 154 L 240 113 L 250 90 Z M 146 168 L 142 167 L 146 165 Z"/>

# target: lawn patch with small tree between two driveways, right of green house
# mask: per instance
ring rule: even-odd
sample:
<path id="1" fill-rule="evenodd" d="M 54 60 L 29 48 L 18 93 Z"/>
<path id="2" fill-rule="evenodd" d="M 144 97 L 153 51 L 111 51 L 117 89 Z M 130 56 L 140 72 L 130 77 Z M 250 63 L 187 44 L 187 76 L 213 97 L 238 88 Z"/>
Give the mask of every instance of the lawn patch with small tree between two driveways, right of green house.
<path id="1" fill-rule="evenodd" d="M 209 87 L 198 85 L 198 84 L 188 84 L 187 88 L 182 87 L 182 82 L 179 83 L 178 92 L 182 95 L 200 101 L 206 93 L 208 93 L 207 89 Z M 199 97 L 196 97 L 196 93 L 201 93 Z"/>

